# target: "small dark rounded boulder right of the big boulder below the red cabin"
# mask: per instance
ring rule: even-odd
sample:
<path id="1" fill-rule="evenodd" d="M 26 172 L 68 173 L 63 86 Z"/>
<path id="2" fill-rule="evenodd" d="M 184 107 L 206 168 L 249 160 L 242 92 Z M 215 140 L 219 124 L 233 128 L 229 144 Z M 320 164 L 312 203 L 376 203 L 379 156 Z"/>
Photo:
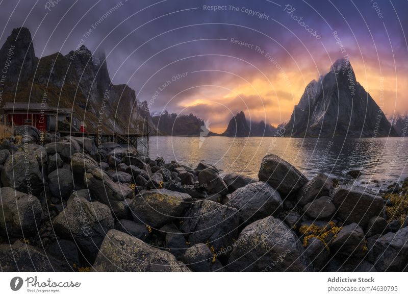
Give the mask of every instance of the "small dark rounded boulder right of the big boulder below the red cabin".
<path id="1" fill-rule="evenodd" d="M 48 175 L 48 188 L 51 194 L 65 200 L 73 189 L 72 172 L 66 169 L 57 169 Z"/>

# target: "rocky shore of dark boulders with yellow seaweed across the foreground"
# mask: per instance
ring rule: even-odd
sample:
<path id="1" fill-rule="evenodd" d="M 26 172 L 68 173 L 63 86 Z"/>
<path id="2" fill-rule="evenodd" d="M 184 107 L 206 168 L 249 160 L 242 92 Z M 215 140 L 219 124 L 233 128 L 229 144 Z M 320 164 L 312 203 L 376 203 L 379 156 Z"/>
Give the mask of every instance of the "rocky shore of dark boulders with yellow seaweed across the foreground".
<path id="1" fill-rule="evenodd" d="M 2 271 L 407 271 L 408 179 L 382 195 L 275 155 L 259 180 L 16 127 Z"/>

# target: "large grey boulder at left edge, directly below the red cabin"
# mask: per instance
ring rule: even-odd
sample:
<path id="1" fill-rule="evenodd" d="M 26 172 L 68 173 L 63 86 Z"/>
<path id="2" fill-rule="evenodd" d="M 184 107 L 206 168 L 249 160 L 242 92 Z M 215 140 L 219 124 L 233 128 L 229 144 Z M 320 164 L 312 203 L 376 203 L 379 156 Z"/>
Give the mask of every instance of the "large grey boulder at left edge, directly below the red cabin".
<path id="1" fill-rule="evenodd" d="M 4 163 L 3 186 L 24 193 L 40 194 L 44 190 L 42 170 L 46 161 L 47 153 L 43 148 L 35 144 L 23 144 Z"/>

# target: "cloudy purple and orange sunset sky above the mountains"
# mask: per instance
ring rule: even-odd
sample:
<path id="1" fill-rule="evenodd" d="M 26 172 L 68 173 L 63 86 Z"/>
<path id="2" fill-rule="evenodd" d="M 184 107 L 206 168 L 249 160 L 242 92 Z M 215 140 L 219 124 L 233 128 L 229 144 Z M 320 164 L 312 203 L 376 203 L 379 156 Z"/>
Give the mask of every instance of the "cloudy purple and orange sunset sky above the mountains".
<path id="1" fill-rule="evenodd" d="M 405 0 L 1 1 L 0 43 L 27 27 L 37 57 L 85 44 L 151 112 L 193 113 L 223 132 L 241 110 L 287 121 L 342 57 L 389 118 L 404 114 L 407 13 Z"/>

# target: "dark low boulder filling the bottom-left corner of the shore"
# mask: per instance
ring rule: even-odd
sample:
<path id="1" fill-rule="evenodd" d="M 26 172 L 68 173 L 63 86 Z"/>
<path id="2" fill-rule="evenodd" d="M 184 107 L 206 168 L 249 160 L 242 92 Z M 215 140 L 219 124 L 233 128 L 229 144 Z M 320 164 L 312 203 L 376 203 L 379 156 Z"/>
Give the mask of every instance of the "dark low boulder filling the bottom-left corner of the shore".
<path id="1" fill-rule="evenodd" d="M 72 271 L 72 268 L 64 262 L 20 240 L 13 244 L 0 244 L 0 267 L 3 272 Z"/>

